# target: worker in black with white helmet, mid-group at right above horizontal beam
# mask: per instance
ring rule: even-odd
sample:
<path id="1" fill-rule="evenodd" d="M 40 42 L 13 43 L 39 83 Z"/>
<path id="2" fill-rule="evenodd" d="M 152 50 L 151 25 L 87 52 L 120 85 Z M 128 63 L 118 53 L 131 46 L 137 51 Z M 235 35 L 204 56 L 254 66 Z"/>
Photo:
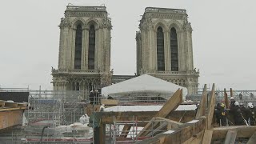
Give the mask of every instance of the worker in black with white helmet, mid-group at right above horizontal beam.
<path id="1" fill-rule="evenodd" d="M 239 102 L 234 102 L 234 107 L 230 108 L 230 114 L 234 118 L 234 125 L 242 126 L 246 124 L 245 114 L 242 112 Z"/>

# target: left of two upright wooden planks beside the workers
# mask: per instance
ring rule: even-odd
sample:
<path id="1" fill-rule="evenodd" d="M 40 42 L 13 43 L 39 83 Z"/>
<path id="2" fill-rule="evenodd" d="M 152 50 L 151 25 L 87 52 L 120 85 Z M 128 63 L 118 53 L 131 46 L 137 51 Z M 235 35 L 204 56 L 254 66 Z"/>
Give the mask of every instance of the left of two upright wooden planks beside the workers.
<path id="1" fill-rule="evenodd" d="M 205 84 L 203 91 L 202 91 L 202 98 L 200 104 L 198 106 L 198 112 L 195 118 L 200 118 L 203 115 L 206 115 L 206 100 L 207 100 L 207 85 Z"/>

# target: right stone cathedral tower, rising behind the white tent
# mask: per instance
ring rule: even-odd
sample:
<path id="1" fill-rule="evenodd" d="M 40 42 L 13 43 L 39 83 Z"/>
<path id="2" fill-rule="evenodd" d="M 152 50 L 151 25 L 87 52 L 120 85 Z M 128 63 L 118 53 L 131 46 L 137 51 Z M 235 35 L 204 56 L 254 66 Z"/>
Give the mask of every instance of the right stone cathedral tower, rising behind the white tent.
<path id="1" fill-rule="evenodd" d="M 150 74 L 198 91 L 192 28 L 186 10 L 147 7 L 136 34 L 137 74 Z"/>

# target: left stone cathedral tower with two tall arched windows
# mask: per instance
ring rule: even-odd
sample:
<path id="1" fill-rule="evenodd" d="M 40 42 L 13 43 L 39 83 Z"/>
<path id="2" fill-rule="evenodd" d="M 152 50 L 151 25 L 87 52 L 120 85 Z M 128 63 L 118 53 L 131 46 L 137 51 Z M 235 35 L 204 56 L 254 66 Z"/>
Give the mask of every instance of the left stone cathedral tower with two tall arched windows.
<path id="1" fill-rule="evenodd" d="M 111 83 L 111 20 L 105 6 L 66 6 L 54 90 L 92 90 Z"/>

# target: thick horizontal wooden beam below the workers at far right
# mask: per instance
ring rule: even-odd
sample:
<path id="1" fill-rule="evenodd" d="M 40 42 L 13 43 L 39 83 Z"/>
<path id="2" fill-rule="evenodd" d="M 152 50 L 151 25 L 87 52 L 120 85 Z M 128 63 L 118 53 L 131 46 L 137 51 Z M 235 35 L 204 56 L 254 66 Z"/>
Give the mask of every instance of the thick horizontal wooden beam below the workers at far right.
<path id="1" fill-rule="evenodd" d="M 236 130 L 237 138 L 250 138 L 256 131 L 256 126 L 223 126 L 213 130 L 213 140 L 226 138 L 228 130 Z"/>

